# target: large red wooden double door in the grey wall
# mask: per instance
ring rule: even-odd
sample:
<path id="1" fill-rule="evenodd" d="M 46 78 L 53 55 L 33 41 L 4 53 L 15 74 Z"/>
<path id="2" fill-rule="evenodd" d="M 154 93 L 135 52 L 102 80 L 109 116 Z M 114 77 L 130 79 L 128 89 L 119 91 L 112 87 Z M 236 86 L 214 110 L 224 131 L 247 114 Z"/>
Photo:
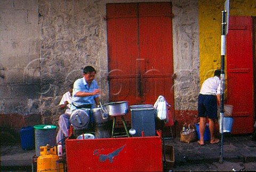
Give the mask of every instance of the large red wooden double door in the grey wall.
<path id="1" fill-rule="evenodd" d="M 171 3 L 107 4 L 110 101 L 163 95 L 174 107 L 171 14 Z"/>

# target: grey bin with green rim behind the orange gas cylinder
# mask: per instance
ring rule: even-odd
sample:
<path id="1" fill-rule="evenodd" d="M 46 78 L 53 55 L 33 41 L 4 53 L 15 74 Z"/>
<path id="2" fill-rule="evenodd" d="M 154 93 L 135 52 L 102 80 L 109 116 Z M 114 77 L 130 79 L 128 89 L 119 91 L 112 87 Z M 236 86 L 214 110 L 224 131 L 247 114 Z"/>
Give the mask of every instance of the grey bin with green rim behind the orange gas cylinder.
<path id="1" fill-rule="evenodd" d="M 56 131 L 55 125 L 35 125 L 35 147 L 36 156 L 40 156 L 40 147 L 56 144 Z"/>

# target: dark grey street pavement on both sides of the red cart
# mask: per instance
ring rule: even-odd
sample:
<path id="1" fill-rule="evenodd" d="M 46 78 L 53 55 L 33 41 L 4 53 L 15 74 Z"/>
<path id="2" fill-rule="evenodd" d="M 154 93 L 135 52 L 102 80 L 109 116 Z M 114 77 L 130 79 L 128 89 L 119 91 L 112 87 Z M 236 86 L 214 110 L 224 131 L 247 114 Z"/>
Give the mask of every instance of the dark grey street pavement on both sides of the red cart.
<path id="1" fill-rule="evenodd" d="M 164 140 L 164 145 L 174 150 L 165 156 L 173 159 L 169 166 L 164 164 L 164 171 L 256 171 L 252 135 L 224 135 L 223 146 L 209 141 L 204 146 L 182 143 L 179 137 Z M 22 150 L 20 144 L 1 145 L 1 171 L 33 171 L 35 154 L 35 150 Z"/>

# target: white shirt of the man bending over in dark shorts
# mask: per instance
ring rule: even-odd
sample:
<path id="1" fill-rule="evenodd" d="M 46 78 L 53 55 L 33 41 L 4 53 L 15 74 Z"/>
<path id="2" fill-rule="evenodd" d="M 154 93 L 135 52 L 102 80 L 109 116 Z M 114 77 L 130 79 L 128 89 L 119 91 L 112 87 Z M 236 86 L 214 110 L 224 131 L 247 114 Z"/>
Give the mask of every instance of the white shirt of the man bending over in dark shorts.
<path id="1" fill-rule="evenodd" d="M 218 76 L 213 76 L 208 78 L 202 84 L 200 94 L 214 95 L 220 94 L 220 78 Z"/>

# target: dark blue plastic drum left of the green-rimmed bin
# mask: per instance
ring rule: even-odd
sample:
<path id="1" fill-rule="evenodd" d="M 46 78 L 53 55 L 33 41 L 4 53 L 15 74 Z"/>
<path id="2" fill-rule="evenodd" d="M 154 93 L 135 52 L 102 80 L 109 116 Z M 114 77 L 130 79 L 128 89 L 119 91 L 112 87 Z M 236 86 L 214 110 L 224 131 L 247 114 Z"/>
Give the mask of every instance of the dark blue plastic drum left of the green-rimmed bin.
<path id="1" fill-rule="evenodd" d="M 23 150 L 35 149 L 34 128 L 32 126 L 21 128 L 20 139 L 21 139 L 21 147 Z"/>

